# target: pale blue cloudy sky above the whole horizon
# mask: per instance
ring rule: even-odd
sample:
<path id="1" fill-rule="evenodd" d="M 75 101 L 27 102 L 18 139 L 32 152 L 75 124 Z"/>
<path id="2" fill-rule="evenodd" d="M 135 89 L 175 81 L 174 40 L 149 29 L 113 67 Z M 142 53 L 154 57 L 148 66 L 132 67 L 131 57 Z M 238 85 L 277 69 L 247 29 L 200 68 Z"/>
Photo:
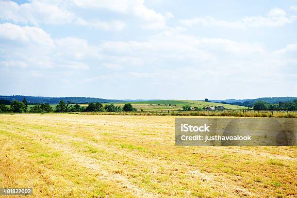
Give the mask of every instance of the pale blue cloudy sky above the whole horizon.
<path id="1" fill-rule="evenodd" d="M 297 0 L 0 0 L 0 95 L 297 97 Z"/>

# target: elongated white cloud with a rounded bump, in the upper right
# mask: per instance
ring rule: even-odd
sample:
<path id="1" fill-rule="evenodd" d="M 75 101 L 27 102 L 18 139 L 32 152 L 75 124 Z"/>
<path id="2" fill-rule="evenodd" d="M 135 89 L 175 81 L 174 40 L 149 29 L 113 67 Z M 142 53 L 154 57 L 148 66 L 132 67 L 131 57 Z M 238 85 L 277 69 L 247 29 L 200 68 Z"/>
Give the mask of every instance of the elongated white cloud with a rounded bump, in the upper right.
<path id="1" fill-rule="evenodd" d="M 239 21 L 225 21 L 213 17 L 195 17 L 193 19 L 182 19 L 180 23 L 192 27 L 196 24 L 202 24 L 207 27 L 227 27 L 245 29 L 248 27 L 261 28 L 261 27 L 281 27 L 287 23 L 293 23 L 297 16 L 288 16 L 287 13 L 280 9 L 271 9 L 266 16 L 246 16 Z"/>

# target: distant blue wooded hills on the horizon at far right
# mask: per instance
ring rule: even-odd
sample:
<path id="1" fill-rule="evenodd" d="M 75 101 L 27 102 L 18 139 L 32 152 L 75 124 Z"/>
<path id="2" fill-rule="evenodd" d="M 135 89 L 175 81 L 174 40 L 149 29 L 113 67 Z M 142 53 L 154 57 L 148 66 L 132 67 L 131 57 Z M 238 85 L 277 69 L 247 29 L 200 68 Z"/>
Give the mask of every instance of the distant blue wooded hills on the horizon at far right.
<path id="1" fill-rule="evenodd" d="M 211 102 L 227 102 L 227 103 L 237 103 L 237 102 L 247 102 L 249 103 L 254 103 L 258 100 L 263 100 L 265 102 L 271 103 L 271 104 L 276 104 L 279 102 L 291 102 L 293 100 L 296 100 L 297 97 L 272 97 L 272 98 L 258 98 L 258 99 L 225 99 L 225 100 L 219 100 L 219 99 L 209 99 Z M 202 101 L 202 100 L 200 100 Z M 237 103 L 238 104 L 238 103 Z"/>

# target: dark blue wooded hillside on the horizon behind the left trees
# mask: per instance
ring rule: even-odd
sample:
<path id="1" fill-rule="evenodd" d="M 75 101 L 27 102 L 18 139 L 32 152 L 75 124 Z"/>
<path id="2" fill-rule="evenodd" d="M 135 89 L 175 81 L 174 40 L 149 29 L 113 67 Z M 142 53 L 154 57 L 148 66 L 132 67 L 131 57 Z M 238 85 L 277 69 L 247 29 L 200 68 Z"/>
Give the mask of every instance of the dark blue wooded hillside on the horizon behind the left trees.
<path id="1" fill-rule="evenodd" d="M 49 103 L 49 104 L 58 104 L 60 100 L 70 101 L 73 103 L 90 103 L 90 102 L 124 102 L 124 100 L 117 100 L 117 99 L 99 99 L 99 98 L 87 98 L 87 97 L 39 97 L 39 96 L 20 96 L 20 95 L 13 95 L 13 96 L 0 96 L 2 100 L 19 100 L 22 101 L 24 98 L 27 99 L 29 104 L 34 103 Z"/>

